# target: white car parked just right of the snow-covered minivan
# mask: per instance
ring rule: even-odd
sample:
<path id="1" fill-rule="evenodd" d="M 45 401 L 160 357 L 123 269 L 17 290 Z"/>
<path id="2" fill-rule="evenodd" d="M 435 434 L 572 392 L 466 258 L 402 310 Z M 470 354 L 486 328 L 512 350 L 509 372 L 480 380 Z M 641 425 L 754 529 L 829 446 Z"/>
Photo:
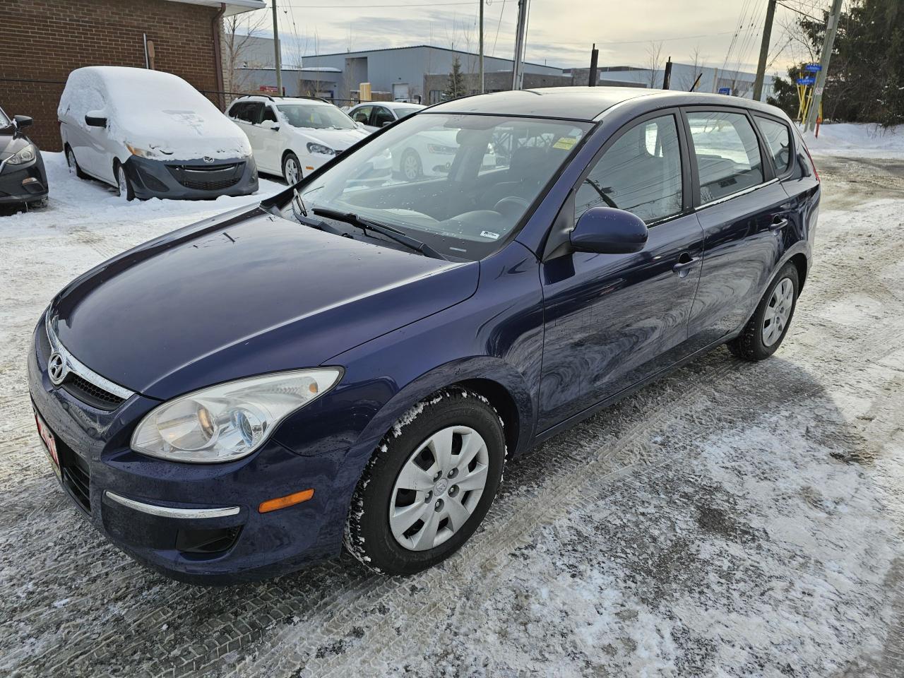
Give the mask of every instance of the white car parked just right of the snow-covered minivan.
<path id="1" fill-rule="evenodd" d="M 226 111 L 248 135 L 261 172 L 296 184 L 370 133 L 324 99 L 246 95 Z M 389 173 L 385 167 L 372 169 Z"/>

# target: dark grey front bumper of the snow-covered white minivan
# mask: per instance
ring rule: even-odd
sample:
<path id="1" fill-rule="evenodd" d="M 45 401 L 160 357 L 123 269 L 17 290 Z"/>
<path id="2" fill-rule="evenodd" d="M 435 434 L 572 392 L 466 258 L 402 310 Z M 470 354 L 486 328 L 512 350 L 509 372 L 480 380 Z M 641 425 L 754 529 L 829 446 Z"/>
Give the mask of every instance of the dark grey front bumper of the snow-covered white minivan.
<path id="1" fill-rule="evenodd" d="M 254 158 L 152 160 L 132 155 L 123 164 L 139 199 L 205 200 L 221 195 L 250 195 L 258 190 Z"/>

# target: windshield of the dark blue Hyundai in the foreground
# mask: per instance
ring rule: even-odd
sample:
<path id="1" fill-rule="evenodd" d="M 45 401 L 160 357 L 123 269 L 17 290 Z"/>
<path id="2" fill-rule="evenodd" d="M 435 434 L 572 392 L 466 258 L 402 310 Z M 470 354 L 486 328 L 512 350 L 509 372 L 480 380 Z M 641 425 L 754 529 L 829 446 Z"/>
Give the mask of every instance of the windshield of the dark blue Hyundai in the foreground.
<path id="1" fill-rule="evenodd" d="M 308 210 L 355 213 L 449 258 L 496 250 L 592 123 L 422 114 L 300 189 Z"/>

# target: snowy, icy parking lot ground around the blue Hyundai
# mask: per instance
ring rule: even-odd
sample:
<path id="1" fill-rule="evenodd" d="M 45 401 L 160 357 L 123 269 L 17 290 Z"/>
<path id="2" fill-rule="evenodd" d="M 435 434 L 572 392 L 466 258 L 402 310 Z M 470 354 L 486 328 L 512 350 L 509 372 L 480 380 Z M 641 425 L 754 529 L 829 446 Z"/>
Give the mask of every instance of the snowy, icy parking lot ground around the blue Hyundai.
<path id="1" fill-rule="evenodd" d="M 49 163 L 51 207 L 0 218 L 0 673 L 901 675 L 904 161 L 816 158 L 815 268 L 773 359 L 720 349 L 514 460 L 434 570 L 344 556 L 229 589 L 76 512 L 24 355 L 68 280 L 238 202 L 124 204 Z"/>

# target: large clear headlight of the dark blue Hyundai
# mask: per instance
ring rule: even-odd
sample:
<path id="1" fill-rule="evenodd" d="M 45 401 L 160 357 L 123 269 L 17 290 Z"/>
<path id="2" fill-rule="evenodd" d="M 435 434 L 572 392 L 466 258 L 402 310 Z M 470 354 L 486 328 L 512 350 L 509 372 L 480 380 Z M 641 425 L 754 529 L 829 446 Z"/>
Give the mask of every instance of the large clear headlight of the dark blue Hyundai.
<path id="1" fill-rule="evenodd" d="M 280 421 L 329 391 L 341 376 L 335 367 L 278 372 L 188 393 L 151 410 L 132 434 L 131 447 L 193 464 L 245 457 Z"/>

